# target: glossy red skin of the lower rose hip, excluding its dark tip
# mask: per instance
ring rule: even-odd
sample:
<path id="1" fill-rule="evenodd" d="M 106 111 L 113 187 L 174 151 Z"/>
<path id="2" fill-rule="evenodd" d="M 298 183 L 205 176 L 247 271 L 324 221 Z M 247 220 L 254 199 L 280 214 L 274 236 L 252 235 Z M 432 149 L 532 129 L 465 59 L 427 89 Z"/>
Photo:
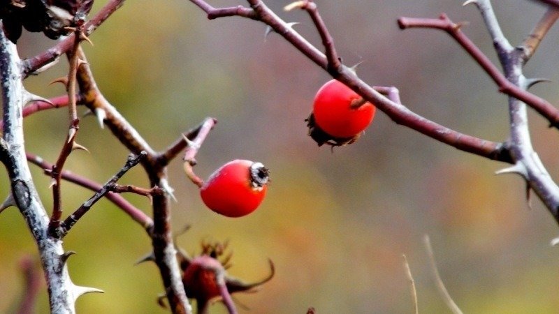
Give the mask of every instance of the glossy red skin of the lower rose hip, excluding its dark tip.
<path id="1" fill-rule="evenodd" d="M 268 188 L 266 168 L 263 168 L 266 170 L 266 182 L 261 186 L 254 183 L 251 167 L 256 164 L 261 165 L 237 159 L 216 170 L 200 188 L 204 204 L 227 217 L 242 217 L 255 211 Z"/>

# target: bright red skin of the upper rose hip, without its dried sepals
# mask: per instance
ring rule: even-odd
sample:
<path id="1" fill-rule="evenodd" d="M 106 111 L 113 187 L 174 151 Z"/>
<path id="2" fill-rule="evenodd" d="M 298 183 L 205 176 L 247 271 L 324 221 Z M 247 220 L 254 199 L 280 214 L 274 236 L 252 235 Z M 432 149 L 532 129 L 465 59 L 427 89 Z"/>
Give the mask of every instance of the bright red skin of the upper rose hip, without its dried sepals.
<path id="1" fill-rule="evenodd" d="M 332 137 L 347 138 L 359 135 L 372 122 L 376 110 L 372 103 L 351 107 L 361 99 L 361 96 L 342 82 L 328 81 L 314 96 L 314 121 L 321 130 Z"/>

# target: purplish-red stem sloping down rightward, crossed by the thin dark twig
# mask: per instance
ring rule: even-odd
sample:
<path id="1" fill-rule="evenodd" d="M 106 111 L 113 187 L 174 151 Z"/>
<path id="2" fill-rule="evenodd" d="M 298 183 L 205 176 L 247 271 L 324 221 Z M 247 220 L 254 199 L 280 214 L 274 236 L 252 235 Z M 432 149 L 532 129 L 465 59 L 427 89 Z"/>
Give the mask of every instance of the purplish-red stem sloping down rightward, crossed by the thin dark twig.
<path id="1" fill-rule="evenodd" d="M 50 175 L 52 169 L 52 165 L 50 163 L 43 160 L 43 158 L 40 158 L 33 154 L 27 153 L 26 155 L 27 155 L 27 160 L 29 160 L 30 163 L 33 163 L 34 165 L 38 165 L 43 169 L 45 174 Z M 78 174 L 66 170 L 63 170 L 61 172 L 61 176 L 62 179 L 66 181 L 72 182 L 73 184 L 78 184 L 78 186 L 82 186 L 92 191 L 101 190 L 101 188 L 103 187 L 101 184 L 98 184 L 95 181 L 92 181 L 90 179 L 87 179 L 85 177 L 82 177 Z M 130 218 L 136 221 L 136 223 L 140 224 L 145 230 L 147 230 L 148 234 L 151 234 L 151 230 L 153 227 L 152 218 L 148 217 L 146 214 L 143 213 L 143 211 L 134 207 L 133 204 L 125 200 L 124 197 L 122 197 L 117 193 L 109 192 L 105 195 L 105 197 L 108 200 L 110 200 L 113 204 L 117 205 L 117 207 L 122 209 L 122 211 L 124 211 L 125 214 L 127 214 L 128 216 L 130 216 Z"/>

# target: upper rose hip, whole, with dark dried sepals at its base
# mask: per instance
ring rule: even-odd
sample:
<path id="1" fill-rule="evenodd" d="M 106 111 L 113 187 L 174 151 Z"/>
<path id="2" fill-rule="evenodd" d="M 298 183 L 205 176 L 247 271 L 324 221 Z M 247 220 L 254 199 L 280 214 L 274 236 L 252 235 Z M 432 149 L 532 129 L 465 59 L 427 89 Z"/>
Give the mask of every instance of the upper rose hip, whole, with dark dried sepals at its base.
<path id="1" fill-rule="evenodd" d="M 319 146 L 342 146 L 361 136 L 375 117 L 375 110 L 375 105 L 345 84 L 331 80 L 314 96 L 312 112 L 305 121 L 310 137 Z"/>

